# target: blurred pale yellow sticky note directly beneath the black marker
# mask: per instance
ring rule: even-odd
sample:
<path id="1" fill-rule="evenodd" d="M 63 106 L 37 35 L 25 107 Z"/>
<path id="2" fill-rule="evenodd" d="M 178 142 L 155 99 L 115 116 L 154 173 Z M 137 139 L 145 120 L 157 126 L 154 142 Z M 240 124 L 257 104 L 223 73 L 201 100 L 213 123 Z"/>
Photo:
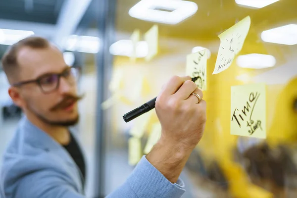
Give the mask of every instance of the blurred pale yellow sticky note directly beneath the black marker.
<path id="1" fill-rule="evenodd" d="M 152 112 L 153 111 L 148 111 L 142 116 L 136 118 L 134 120 L 133 127 L 129 131 L 129 134 L 137 138 L 142 138 L 148 127 L 148 123 L 151 118 Z"/>

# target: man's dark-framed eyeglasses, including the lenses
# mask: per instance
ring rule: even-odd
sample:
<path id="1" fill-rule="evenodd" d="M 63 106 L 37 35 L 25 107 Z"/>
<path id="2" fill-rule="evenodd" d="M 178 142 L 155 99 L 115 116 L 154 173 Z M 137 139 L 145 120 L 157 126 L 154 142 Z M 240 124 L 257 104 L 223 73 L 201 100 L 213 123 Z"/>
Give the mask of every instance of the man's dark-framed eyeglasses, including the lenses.
<path id="1" fill-rule="evenodd" d="M 21 86 L 29 84 L 29 83 L 36 83 L 40 87 L 40 89 L 43 93 L 49 94 L 49 93 L 54 92 L 55 90 L 58 89 L 58 87 L 60 85 L 61 77 L 64 77 L 67 80 L 67 82 L 69 83 L 69 85 L 74 85 L 79 78 L 79 74 L 80 74 L 80 70 L 78 67 L 67 67 L 61 73 L 44 74 L 35 80 L 29 80 L 29 81 L 15 83 L 12 86 L 21 87 Z"/>

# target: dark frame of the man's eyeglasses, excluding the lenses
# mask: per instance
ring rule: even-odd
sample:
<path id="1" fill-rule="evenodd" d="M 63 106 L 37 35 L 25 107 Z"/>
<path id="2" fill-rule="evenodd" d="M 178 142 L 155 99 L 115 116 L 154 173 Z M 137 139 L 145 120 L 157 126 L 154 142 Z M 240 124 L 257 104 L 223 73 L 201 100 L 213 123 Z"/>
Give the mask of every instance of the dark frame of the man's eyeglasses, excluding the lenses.
<path id="1" fill-rule="evenodd" d="M 70 70 L 70 71 L 69 71 Z M 60 85 L 60 79 L 61 77 L 64 77 L 66 78 L 66 72 L 69 71 L 71 73 L 71 70 L 75 70 L 77 71 L 77 76 L 76 76 L 76 81 L 78 81 L 79 77 L 80 77 L 80 74 L 81 74 L 81 67 L 70 67 L 70 66 L 67 66 L 61 73 L 46 73 L 46 74 L 43 74 L 39 77 L 37 77 L 36 79 L 34 80 L 27 80 L 27 81 L 21 81 L 21 82 L 18 82 L 18 83 L 14 83 L 12 84 L 13 87 L 21 87 L 23 85 L 27 85 L 27 84 L 30 84 L 30 83 L 35 83 L 39 86 L 40 90 L 44 93 L 44 94 L 49 94 L 49 93 L 52 93 L 54 92 L 55 90 L 58 89 L 59 85 Z M 56 75 L 57 76 L 57 85 L 56 87 L 53 89 L 53 90 L 50 90 L 50 91 L 45 91 L 43 88 L 42 88 L 42 85 L 41 85 L 41 80 L 47 76 L 51 76 L 51 75 Z"/>

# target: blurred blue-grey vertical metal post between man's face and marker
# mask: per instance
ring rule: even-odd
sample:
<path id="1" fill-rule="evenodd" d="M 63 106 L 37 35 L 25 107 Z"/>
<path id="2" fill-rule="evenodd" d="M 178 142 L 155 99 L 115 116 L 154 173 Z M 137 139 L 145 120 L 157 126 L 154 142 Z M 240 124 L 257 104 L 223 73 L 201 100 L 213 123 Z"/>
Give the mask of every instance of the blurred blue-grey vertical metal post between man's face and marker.
<path id="1" fill-rule="evenodd" d="M 112 74 L 113 56 L 109 53 L 109 46 L 114 43 L 115 39 L 115 14 L 116 14 L 116 0 L 96 0 L 95 3 L 98 8 L 98 29 L 100 38 L 100 50 L 97 54 L 97 106 L 96 106 L 96 151 L 95 151 L 95 179 L 94 197 L 104 198 L 105 189 L 105 121 L 104 112 L 101 109 L 101 103 L 108 98 L 108 83 Z"/>

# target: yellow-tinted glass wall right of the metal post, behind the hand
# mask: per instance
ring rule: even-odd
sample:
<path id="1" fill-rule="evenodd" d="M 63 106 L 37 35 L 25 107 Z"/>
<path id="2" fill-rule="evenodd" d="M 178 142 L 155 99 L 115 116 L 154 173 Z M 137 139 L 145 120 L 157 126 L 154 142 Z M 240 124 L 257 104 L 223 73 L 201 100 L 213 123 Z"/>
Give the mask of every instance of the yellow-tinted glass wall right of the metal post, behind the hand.
<path id="1" fill-rule="evenodd" d="M 206 48 L 207 123 L 182 174 L 188 188 L 184 198 L 297 196 L 297 1 L 275 1 L 117 0 L 110 97 L 101 104 L 108 120 L 105 194 L 125 181 L 140 153 L 146 154 L 158 125 L 154 110 L 128 123 L 122 115 L 156 97 L 173 75 L 185 76 L 187 55 Z M 212 75 L 220 55 L 218 35 L 247 16 L 251 24 L 242 50 L 227 70 Z M 154 25 L 157 53 L 149 57 L 156 35 L 148 38 L 146 33 Z M 263 33 L 282 26 L 285 30 L 270 37 Z M 231 87 L 257 83 L 266 86 L 266 138 L 231 135 Z M 131 137 L 140 140 L 141 148 L 129 145 Z"/>

